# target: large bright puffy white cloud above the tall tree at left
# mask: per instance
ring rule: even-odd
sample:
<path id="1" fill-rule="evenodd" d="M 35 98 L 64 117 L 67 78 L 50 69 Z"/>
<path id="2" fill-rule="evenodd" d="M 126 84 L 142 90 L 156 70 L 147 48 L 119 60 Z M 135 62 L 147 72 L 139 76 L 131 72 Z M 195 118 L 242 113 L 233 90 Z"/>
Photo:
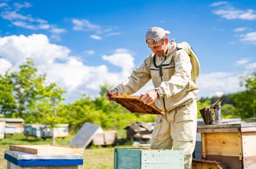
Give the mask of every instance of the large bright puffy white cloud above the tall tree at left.
<path id="1" fill-rule="evenodd" d="M 69 53 L 69 48 L 50 44 L 43 34 L 0 38 L 0 56 L 13 65 L 20 65 L 27 57 L 34 59 L 36 64 L 52 64 L 55 59 L 66 59 Z"/>

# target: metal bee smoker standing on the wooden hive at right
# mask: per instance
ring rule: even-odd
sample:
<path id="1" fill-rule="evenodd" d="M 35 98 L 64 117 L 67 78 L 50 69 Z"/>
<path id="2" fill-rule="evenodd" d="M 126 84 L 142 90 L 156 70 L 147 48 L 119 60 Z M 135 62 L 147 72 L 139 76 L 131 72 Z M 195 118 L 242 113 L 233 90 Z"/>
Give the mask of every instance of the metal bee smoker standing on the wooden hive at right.
<path id="1" fill-rule="evenodd" d="M 218 99 L 210 107 L 203 108 L 200 111 L 205 125 L 216 125 L 222 123 L 222 98 Z"/>

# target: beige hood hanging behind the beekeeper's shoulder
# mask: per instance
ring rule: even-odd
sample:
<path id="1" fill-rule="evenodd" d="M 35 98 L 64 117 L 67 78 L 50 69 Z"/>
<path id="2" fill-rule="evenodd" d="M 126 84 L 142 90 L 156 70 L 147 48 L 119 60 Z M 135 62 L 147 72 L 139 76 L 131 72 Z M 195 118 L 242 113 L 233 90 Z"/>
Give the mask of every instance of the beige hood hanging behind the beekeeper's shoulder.
<path id="1" fill-rule="evenodd" d="M 195 80 L 199 77 L 200 74 L 200 63 L 197 59 L 197 55 L 187 42 L 177 43 L 177 50 L 180 49 L 185 50 L 190 57 L 192 65 L 191 79 L 195 83 Z"/>

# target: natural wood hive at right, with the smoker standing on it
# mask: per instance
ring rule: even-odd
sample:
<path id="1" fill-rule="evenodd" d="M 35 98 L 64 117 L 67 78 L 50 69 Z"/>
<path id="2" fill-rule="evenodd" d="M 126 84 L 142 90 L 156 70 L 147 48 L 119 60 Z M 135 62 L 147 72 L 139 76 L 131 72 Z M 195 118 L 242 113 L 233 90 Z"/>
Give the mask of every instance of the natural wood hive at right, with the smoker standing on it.
<path id="1" fill-rule="evenodd" d="M 256 168 L 256 123 L 197 126 L 203 158 L 225 162 L 228 168 Z"/>

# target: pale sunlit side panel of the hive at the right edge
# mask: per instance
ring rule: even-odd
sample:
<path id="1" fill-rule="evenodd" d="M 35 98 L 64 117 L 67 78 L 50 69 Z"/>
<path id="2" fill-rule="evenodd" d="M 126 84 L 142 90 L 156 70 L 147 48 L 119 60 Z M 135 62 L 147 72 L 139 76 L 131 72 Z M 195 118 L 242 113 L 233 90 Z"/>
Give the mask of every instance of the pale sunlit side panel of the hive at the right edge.
<path id="1" fill-rule="evenodd" d="M 243 157 L 256 156 L 256 132 L 242 133 Z"/>

